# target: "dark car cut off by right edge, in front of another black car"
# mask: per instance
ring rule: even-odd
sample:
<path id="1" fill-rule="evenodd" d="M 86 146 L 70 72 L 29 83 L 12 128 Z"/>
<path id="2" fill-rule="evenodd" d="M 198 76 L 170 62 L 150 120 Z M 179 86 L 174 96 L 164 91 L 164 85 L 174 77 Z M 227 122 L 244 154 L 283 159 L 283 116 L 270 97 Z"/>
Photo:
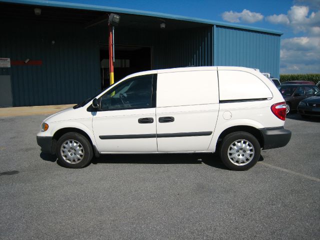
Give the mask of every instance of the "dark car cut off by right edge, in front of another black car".
<path id="1" fill-rule="evenodd" d="M 300 101 L 297 110 L 302 117 L 320 116 L 320 91 Z"/>

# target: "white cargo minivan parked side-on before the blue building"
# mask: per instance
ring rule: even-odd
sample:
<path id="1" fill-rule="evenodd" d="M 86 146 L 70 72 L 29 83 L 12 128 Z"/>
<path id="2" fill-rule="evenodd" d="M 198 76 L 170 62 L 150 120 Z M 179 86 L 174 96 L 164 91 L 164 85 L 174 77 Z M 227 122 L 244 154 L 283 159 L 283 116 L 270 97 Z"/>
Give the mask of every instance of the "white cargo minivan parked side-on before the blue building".
<path id="1" fill-rule="evenodd" d="M 104 153 L 215 152 L 245 170 L 288 143 L 285 102 L 259 71 L 184 67 L 131 74 L 41 124 L 37 143 L 66 167 Z M 165 157 L 165 156 L 163 156 Z"/>

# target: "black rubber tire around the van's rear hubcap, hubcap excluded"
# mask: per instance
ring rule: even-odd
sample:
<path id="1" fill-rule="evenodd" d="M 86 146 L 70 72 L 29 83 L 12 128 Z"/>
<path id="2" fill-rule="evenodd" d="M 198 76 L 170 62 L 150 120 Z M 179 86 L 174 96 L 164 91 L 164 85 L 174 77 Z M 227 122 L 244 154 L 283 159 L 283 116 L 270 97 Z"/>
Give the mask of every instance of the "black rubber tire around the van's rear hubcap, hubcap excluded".
<path id="1" fill-rule="evenodd" d="M 235 142 L 237 140 L 242 140 L 242 139 L 245 141 L 248 141 L 250 143 L 250 145 L 253 146 L 254 153 L 252 155 L 249 153 L 250 150 L 246 150 L 246 153 L 245 152 L 242 152 L 242 153 L 243 153 L 243 155 L 246 154 L 246 155 L 250 156 L 251 160 L 249 160 L 247 163 L 245 163 L 245 162 L 241 163 L 240 160 L 238 163 L 237 162 L 234 163 L 233 161 L 231 161 L 231 159 L 229 159 L 228 150 L 231 147 L 230 145 L 233 142 Z M 249 146 L 249 144 L 248 144 L 248 146 Z M 232 149 L 232 148 L 230 148 L 230 149 Z M 245 148 L 243 148 L 243 149 L 239 148 L 239 149 L 245 151 Z M 239 150 L 239 151 L 241 151 L 241 150 Z M 220 153 L 220 158 L 221 158 L 223 164 L 227 168 L 229 168 L 230 170 L 243 171 L 243 170 L 247 170 L 250 167 L 255 165 L 255 163 L 260 158 L 261 148 L 260 148 L 260 144 L 259 144 L 258 140 L 252 134 L 250 134 L 248 132 L 244 132 L 244 131 L 236 131 L 236 132 L 229 133 L 225 137 L 223 137 L 222 143 L 220 145 L 219 153 Z M 237 153 L 235 153 L 235 154 L 237 154 Z M 239 155 L 241 158 L 242 154 L 239 154 Z M 231 156 L 230 156 L 230 158 L 231 158 Z M 243 158 L 246 159 L 245 155 Z M 241 159 L 243 159 L 243 158 L 241 158 Z"/>

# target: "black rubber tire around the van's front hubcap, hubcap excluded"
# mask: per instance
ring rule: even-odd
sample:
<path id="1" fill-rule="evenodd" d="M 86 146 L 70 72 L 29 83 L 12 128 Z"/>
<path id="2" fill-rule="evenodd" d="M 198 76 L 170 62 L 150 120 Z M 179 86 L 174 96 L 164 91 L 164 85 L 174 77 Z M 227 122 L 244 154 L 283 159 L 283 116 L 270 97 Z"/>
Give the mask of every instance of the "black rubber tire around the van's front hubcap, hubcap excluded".
<path id="1" fill-rule="evenodd" d="M 62 156 L 61 147 L 62 147 L 62 144 L 65 143 L 67 140 L 75 140 L 82 145 L 82 148 L 83 148 L 83 152 L 82 152 L 83 154 L 81 153 L 82 159 L 79 160 L 78 162 L 71 163 L 71 162 L 69 162 L 69 159 L 64 159 L 64 157 Z M 55 153 L 57 156 L 58 163 L 64 167 L 68 167 L 68 168 L 84 167 L 90 163 L 90 161 L 93 157 L 93 149 L 92 149 L 90 142 L 88 141 L 88 139 L 85 136 L 83 136 L 77 132 L 67 132 L 67 133 L 63 134 L 57 140 Z"/>

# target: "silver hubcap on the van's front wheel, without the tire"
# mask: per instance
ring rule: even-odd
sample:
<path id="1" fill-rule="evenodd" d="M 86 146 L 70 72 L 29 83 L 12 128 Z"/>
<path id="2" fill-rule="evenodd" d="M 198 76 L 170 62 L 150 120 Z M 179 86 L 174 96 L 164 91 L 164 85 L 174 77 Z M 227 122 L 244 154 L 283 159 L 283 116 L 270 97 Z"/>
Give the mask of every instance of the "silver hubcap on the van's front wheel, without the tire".
<path id="1" fill-rule="evenodd" d="M 71 164 L 80 162 L 84 156 L 84 149 L 80 142 L 76 140 L 66 140 L 60 147 L 61 156 Z"/>

